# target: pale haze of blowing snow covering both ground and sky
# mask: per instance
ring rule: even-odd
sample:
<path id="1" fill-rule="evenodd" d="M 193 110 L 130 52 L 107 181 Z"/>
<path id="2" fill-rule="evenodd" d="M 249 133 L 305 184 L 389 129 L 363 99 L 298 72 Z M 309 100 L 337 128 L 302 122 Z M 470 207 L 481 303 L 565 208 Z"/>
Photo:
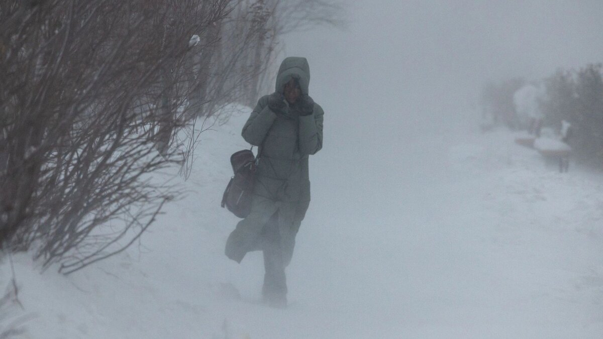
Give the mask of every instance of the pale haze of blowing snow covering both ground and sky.
<path id="1" fill-rule="evenodd" d="M 232 104 L 188 180 L 158 174 L 187 195 L 134 246 L 68 277 L 31 253 L 0 265 L 10 310 L 35 315 L 8 321 L 33 338 L 603 338 L 601 173 L 478 127 L 485 82 L 603 61 L 603 1 L 349 2 L 346 28 L 289 34 L 274 65 L 306 57 L 325 112 L 286 309 L 260 302 L 261 252 L 224 255 L 251 111 Z"/>

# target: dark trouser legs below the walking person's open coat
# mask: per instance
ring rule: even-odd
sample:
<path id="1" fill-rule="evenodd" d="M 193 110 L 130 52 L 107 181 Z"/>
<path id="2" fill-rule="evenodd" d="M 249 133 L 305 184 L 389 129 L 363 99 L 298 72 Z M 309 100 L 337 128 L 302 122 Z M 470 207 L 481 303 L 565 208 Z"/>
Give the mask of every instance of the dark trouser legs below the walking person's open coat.
<path id="1" fill-rule="evenodd" d="M 279 227 L 279 214 L 276 212 L 262 229 L 262 251 L 264 252 L 264 287 L 262 295 L 270 298 L 284 299 L 287 294 L 283 237 Z"/>

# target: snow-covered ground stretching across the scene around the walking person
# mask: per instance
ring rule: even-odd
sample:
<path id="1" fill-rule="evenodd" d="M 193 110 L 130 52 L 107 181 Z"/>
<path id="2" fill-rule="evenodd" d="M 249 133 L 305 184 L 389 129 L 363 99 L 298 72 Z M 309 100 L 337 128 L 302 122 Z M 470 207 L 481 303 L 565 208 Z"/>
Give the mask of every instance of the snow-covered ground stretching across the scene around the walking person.
<path id="1" fill-rule="evenodd" d="M 289 307 L 261 305 L 261 255 L 224 256 L 238 218 L 219 208 L 246 118 L 204 132 L 191 193 L 127 253 L 66 277 L 14 256 L 24 310 L 2 325 L 31 317 L 23 338 L 603 337 L 603 177 L 559 174 L 506 130 L 415 138 L 391 162 L 326 139 Z M 10 276 L 2 262 L 3 287 Z"/>

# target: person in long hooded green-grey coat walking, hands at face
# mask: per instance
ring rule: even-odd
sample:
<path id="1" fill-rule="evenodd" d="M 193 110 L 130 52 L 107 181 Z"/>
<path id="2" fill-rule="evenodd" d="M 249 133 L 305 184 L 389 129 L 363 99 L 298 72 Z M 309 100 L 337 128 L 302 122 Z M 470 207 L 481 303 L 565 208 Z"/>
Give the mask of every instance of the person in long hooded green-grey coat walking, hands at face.
<path id="1" fill-rule="evenodd" d="M 308 157 L 323 147 L 323 109 L 308 95 L 310 68 L 303 57 L 280 65 L 276 92 L 265 95 L 245 123 L 242 136 L 259 154 L 250 214 L 226 241 L 226 255 L 241 262 L 264 252 L 262 297 L 270 306 L 287 303 L 285 267 L 310 202 Z"/>

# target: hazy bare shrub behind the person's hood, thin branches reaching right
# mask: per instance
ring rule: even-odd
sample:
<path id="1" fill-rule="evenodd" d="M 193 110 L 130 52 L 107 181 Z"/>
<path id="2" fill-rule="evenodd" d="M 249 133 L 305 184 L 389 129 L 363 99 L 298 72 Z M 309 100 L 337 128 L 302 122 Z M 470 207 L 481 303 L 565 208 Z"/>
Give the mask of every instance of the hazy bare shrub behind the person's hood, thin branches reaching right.
<path id="1" fill-rule="evenodd" d="M 214 116 L 218 124 L 228 121 L 230 103 L 253 107 L 262 93 L 273 90 L 282 51 L 280 38 L 295 30 L 317 25 L 343 27 L 344 10 L 339 2 L 324 0 L 233 0 L 233 10 L 223 21 L 203 32 L 192 53 L 189 84 L 193 88 L 191 113 Z M 203 121 L 206 122 L 206 121 Z M 182 173 L 191 173 L 199 132 L 189 128 Z M 196 127 L 196 125 L 195 125 Z"/>

